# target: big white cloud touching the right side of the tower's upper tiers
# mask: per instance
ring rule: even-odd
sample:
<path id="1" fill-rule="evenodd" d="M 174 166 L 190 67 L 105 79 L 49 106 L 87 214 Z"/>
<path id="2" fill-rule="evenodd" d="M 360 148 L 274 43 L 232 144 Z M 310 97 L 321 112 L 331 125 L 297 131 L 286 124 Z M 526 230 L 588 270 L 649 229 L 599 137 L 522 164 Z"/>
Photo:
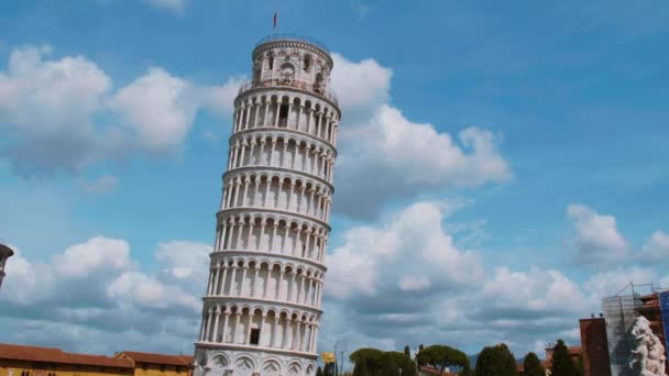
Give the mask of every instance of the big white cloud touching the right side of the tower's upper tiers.
<path id="1" fill-rule="evenodd" d="M 391 69 L 373 59 L 353 63 L 338 54 L 333 59 L 332 87 L 343 111 L 336 174 L 339 212 L 371 219 L 394 198 L 512 176 L 492 132 L 468 126 L 452 136 L 412 122 L 390 103 Z"/>

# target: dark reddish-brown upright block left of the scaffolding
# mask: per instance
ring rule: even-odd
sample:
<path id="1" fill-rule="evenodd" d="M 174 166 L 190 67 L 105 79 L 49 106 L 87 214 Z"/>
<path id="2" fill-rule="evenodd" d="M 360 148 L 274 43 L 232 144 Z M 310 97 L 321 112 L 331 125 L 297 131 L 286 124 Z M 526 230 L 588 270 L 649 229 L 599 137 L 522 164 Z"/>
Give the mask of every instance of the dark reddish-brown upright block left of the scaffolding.
<path id="1" fill-rule="evenodd" d="M 585 376 L 611 376 L 606 321 L 603 317 L 579 321 Z"/>

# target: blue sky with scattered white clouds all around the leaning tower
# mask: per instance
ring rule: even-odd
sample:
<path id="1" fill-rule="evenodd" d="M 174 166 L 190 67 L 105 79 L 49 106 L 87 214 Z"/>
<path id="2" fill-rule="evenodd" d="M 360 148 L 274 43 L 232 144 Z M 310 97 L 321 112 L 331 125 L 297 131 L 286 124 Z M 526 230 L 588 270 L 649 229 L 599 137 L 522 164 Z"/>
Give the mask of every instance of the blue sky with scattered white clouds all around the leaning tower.
<path id="1" fill-rule="evenodd" d="M 336 54 L 343 111 L 320 349 L 522 355 L 669 285 L 662 1 L 14 1 L 0 341 L 191 351 L 231 101 L 275 10 Z"/>

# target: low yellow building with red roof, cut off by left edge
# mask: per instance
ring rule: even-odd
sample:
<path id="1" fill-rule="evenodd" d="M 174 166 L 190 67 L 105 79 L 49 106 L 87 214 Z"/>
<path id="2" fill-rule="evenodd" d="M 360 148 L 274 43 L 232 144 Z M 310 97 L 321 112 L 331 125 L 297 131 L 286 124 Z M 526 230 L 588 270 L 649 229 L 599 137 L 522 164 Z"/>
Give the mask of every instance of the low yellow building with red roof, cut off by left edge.
<path id="1" fill-rule="evenodd" d="M 129 360 L 0 343 L 0 376 L 132 376 Z"/>

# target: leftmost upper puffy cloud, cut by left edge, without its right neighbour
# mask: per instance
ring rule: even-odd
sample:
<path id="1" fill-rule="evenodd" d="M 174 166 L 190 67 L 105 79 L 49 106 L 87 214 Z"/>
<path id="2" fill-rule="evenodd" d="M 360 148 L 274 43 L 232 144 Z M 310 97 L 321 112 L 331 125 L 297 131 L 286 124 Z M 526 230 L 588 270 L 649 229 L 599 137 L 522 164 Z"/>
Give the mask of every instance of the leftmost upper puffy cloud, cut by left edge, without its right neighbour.
<path id="1" fill-rule="evenodd" d="M 7 135 L 0 158 L 24 172 L 73 170 L 90 162 L 96 153 L 91 115 L 111 87 L 85 57 L 44 59 L 50 54 L 50 46 L 15 48 L 0 71 L 0 132 Z"/>

